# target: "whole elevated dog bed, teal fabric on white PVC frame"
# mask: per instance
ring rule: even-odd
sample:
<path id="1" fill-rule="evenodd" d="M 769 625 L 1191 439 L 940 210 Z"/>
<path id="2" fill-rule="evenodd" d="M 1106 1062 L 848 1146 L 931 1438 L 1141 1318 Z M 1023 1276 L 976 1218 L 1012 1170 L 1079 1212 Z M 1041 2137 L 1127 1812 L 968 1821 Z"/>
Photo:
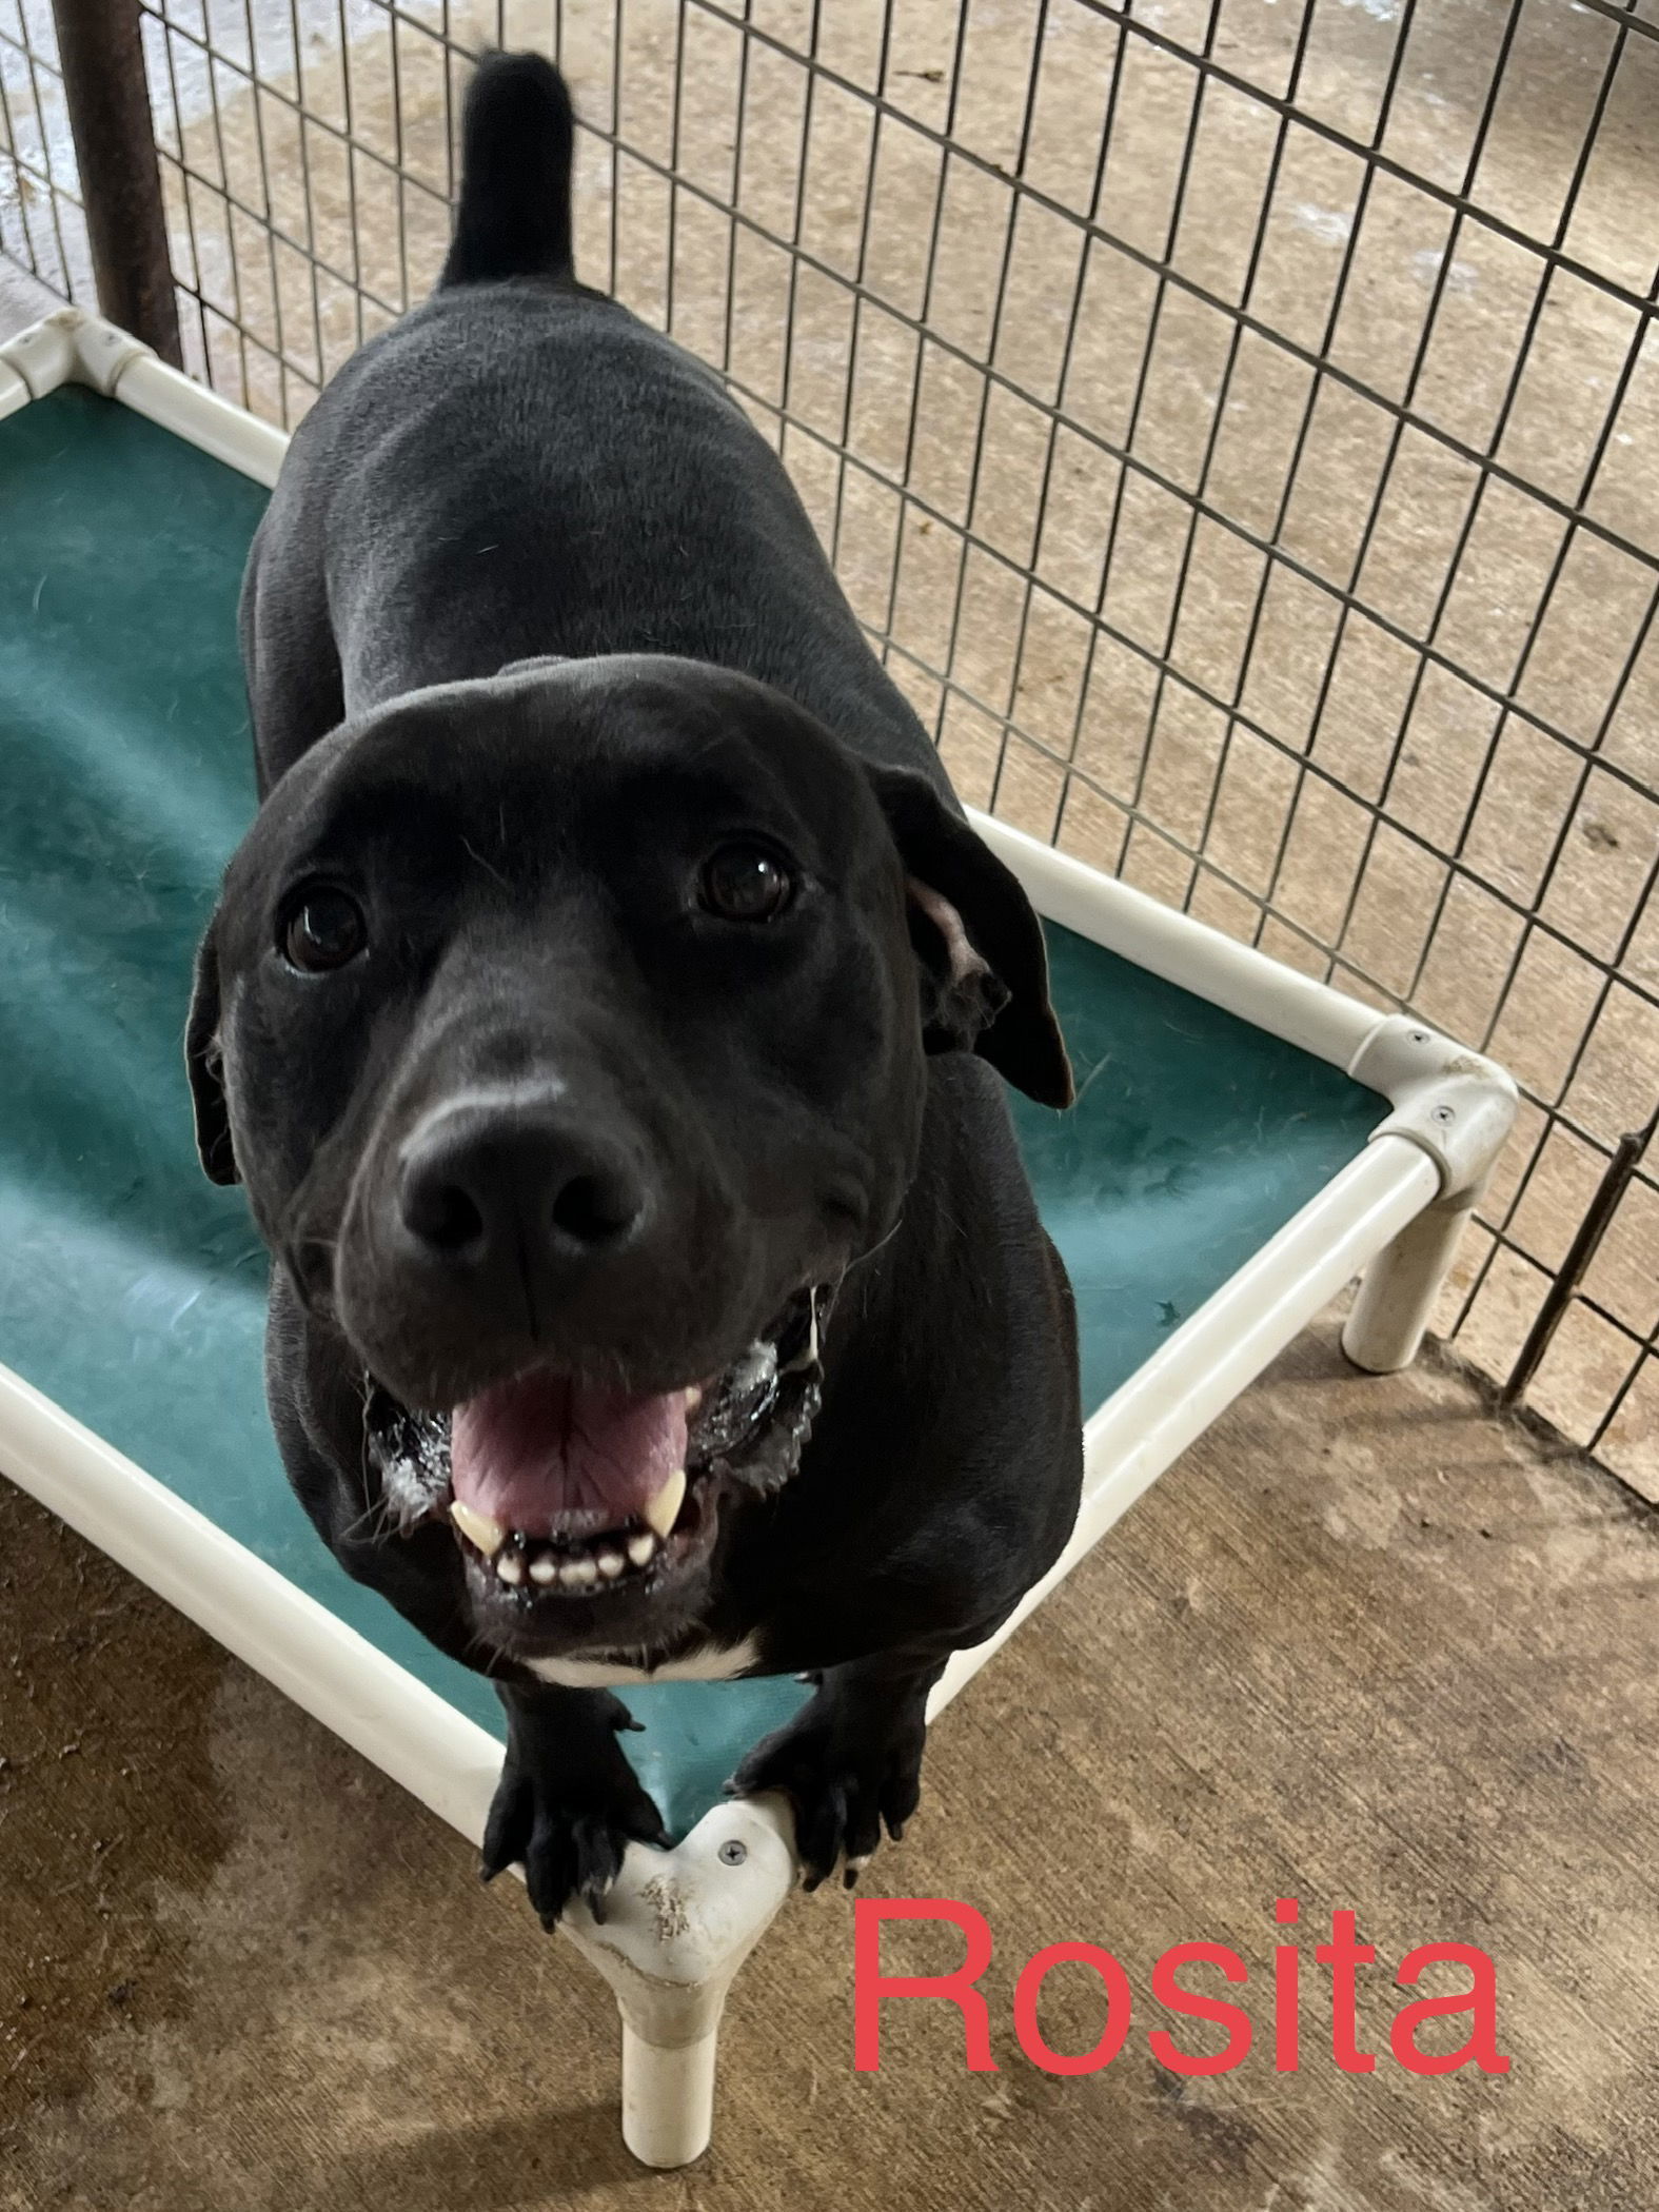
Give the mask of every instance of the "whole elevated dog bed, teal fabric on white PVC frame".
<path id="1" fill-rule="evenodd" d="M 476 1840 L 495 1699 L 294 1504 L 261 1398 L 265 1256 L 190 1139 L 190 953 L 254 805 L 237 582 L 283 440 L 75 314 L 0 349 L 0 1469 Z M 1347 1347 L 1411 1358 L 1513 1086 L 980 827 L 1048 920 L 1079 1082 L 1068 1115 L 1015 1102 L 1093 1409 L 1051 1586 L 1367 1261 Z M 606 1927 L 577 1909 L 568 1931 L 622 1997 L 650 2163 L 708 2139 L 726 1984 L 794 1871 L 785 1807 L 721 1783 L 801 1697 L 628 1692 L 624 1741 L 681 1840 L 635 1849 Z"/>

